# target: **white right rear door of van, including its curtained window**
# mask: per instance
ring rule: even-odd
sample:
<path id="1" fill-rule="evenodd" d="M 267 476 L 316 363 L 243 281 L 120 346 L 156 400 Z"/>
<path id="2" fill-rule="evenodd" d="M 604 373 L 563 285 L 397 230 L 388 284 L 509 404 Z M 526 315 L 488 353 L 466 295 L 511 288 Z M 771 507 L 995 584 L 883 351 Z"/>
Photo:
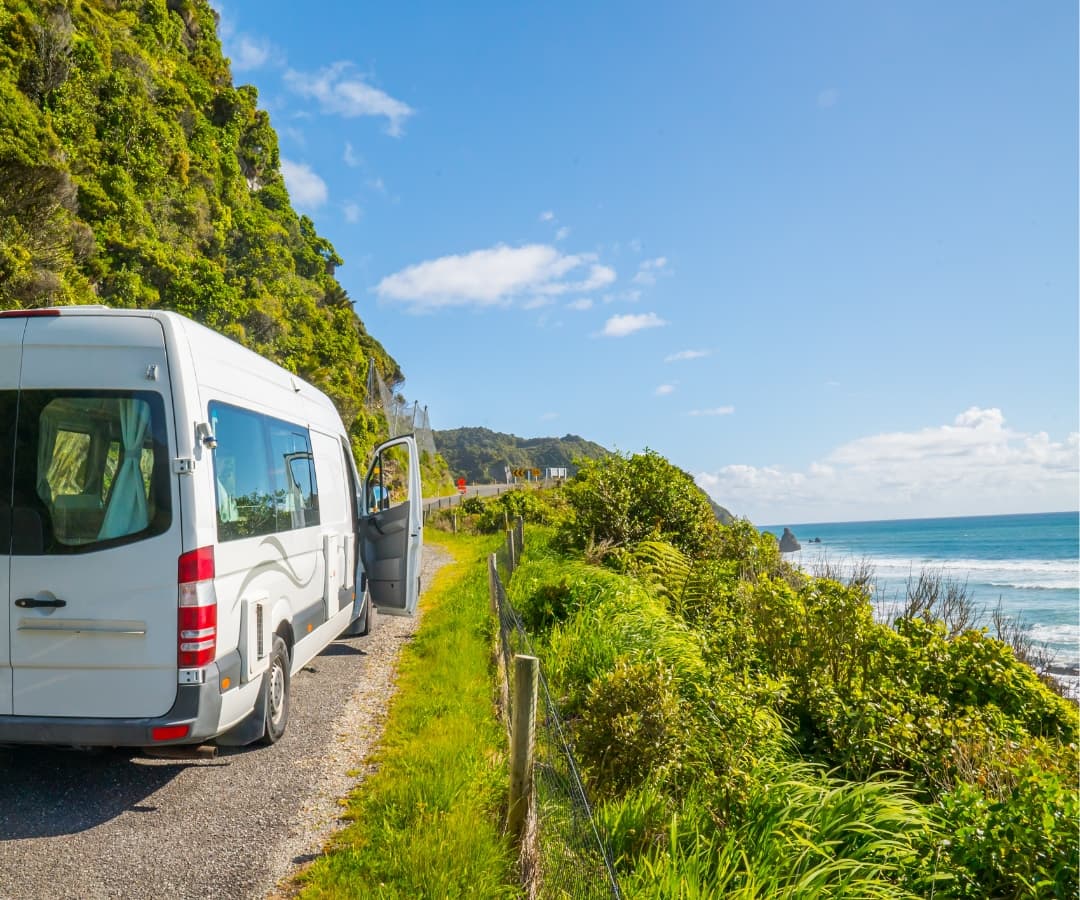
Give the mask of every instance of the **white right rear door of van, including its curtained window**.
<path id="1" fill-rule="evenodd" d="M 177 690 L 168 365 L 147 317 L 26 320 L 6 614 L 15 715 L 143 717 Z"/>

